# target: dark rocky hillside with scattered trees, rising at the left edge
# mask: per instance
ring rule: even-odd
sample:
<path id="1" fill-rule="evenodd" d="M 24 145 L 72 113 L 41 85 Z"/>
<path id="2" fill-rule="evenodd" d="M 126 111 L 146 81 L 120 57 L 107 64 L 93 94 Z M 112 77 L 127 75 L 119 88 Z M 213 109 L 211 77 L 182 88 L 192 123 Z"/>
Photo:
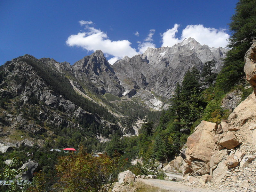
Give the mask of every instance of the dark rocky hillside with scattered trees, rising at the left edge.
<path id="1" fill-rule="evenodd" d="M 2 142 L 20 145 L 32 138 L 42 145 L 49 137 L 72 137 L 75 132 L 84 138 L 96 137 L 104 130 L 107 136 L 121 129 L 106 108 L 77 94 L 68 78 L 60 73 L 64 69 L 71 71 L 68 63 L 37 60 L 30 55 L 1 66 Z"/>

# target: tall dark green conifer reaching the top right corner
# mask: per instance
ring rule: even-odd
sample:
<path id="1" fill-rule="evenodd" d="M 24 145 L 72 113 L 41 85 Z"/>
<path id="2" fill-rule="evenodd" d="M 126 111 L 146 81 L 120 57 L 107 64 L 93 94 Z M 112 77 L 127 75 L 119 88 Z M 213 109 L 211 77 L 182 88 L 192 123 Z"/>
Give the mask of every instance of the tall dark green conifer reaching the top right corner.
<path id="1" fill-rule="evenodd" d="M 229 29 L 232 36 L 228 47 L 231 48 L 224 60 L 224 66 L 217 77 L 217 88 L 229 91 L 244 78 L 244 55 L 256 38 L 256 1 L 240 0 L 231 18 Z"/>

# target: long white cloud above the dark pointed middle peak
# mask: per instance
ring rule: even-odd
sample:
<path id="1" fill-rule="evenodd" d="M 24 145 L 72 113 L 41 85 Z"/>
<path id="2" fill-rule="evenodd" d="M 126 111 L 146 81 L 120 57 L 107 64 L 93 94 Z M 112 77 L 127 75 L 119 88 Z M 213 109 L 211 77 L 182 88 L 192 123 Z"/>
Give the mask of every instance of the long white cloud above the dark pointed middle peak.
<path id="1" fill-rule="evenodd" d="M 85 24 L 87 25 L 87 24 Z M 85 27 L 84 32 L 79 32 L 76 35 L 70 35 L 66 41 L 68 46 L 78 46 L 87 51 L 101 50 L 108 56 L 113 56 L 110 62 L 122 59 L 125 55 L 132 57 L 138 52 L 131 47 L 128 40 L 111 41 L 106 33 L 94 27 Z"/>

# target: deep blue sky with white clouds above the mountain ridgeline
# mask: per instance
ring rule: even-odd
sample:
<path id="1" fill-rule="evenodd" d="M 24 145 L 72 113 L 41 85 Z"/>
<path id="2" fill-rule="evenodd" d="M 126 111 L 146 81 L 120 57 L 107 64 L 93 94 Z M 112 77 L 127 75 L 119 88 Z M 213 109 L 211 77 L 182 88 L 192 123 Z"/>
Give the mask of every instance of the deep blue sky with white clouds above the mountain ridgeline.
<path id="1" fill-rule="evenodd" d="M 228 23 L 236 3 L 2 0 L 0 65 L 24 54 L 74 64 L 98 49 L 113 63 L 148 46 L 172 46 L 188 36 L 223 47 L 231 35 Z"/>

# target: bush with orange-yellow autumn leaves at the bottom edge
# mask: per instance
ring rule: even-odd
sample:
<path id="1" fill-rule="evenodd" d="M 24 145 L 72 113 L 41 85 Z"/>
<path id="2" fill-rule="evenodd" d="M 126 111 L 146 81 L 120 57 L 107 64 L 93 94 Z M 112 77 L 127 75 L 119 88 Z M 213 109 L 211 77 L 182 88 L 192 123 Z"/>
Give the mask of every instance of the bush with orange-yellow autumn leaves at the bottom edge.
<path id="1" fill-rule="evenodd" d="M 77 155 L 59 159 L 56 170 L 60 180 L 55 184 L 55 190 L 107 192 L 123 165 L 124 160 L 118 156 L 110 158 L 100 154 L 96 157 L 81 149 Z"/>

